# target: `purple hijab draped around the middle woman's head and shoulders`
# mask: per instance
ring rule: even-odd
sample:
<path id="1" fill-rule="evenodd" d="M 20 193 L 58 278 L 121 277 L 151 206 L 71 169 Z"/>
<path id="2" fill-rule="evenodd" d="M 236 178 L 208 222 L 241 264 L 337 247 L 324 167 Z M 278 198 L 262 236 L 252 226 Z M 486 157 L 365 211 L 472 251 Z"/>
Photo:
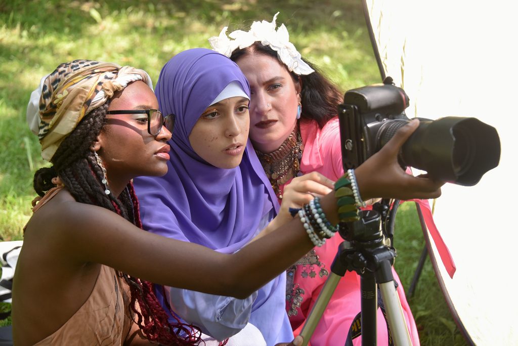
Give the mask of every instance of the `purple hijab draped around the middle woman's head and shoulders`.
<path id="1" fill-rule="evenodd" d="M 278 211 L 250 140 L 232 169 L 207 163 L 189 142 L 196 121 L 232 81 L 250 95 L 239 67 L 204 48 L 181 52 L 162 68 L 155 94 L 162 113 L 175 113 L 176 122 L 167 174 L 134 181 L 144 229 L 233 253 L 253 238 L 264 215 Z"/>

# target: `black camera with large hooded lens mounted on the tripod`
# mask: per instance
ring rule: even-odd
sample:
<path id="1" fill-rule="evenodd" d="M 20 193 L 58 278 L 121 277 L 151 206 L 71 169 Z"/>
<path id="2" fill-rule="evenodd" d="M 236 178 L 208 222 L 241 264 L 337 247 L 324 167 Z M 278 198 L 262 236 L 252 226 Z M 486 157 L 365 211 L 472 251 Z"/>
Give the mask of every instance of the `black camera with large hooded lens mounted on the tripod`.
<path id="1" fill-rule="evenodd" d="M 338 106 L 344 169 L 356 168 L 379 151 L 410 119 L 409 98 L 387 77 L 383 84 L 349 90 Z M 500 161 L 496 129 L 476 118 L 419 118 L 399 153 L 401 167 L 425 170 L 432 179 L 476 184 Z"/>

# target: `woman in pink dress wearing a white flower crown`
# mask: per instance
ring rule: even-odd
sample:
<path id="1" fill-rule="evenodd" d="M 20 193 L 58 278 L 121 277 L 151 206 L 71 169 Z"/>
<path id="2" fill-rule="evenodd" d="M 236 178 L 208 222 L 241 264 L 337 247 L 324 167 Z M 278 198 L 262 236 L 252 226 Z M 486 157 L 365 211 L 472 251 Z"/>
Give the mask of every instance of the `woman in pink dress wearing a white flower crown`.
<path id="1" fill-rule="evenodd" d="M 302 174 L 320 172 L 332 180 L 343 174 L 337 106 L 342 94 L 289 41 L 284 24 L 253 22 L 248 32 L 237 30 L 211 37 L 212 48 L 235 61 L 250 83 L 250 139 L 279 202 L 286 184 Z M 409 176 L 410 177 L 410 176 Z M 342 239 L 334 237 L 314 248 L 287 270 L 286 310 L 297 335 L 314 305 Z M 397 293 L 414 345 L 419 344 L 405 292 Z M 344 344 L 347 330 L 360 311 L 359 276 L 348 271 L 316 327 L 312 346 Z M 378 344 L 387 344 L 387 328 L 378 310 Z M 353 340 L 361 344 L 361 337 Z"/>

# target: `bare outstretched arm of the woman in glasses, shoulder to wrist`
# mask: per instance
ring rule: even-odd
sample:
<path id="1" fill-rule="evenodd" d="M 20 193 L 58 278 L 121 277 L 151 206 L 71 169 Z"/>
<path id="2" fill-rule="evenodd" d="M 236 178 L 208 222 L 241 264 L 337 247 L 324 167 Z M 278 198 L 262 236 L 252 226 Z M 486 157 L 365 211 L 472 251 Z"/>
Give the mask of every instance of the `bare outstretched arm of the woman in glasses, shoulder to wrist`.
<path id="1" fill-rule="evenodd" d="M 323 197 L 322 205 L 336 222 L 334 196 Z M 62 215 L 63 226 L 52 236 L 62 254 L 78 263 L 102 263 L 147 281 L 237 298 L 249 296 L 313 247 L 298 218 L 237 253 L 222 254 L 148 233 L 96 206 L 69 203 Z"/>

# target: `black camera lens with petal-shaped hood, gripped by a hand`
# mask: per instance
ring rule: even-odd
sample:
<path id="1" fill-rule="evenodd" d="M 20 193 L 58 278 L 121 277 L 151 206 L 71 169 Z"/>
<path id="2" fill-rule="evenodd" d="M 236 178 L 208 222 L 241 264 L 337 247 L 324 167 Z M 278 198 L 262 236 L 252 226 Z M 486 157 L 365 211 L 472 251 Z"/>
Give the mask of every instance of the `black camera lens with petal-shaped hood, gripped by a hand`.
<path id="1" fill-rule="evenodd" d="M 472 186 L 498 166 L 500 140 L 496 129 L 477 118 L 420 119 L 403 145 L 401 165 L 425 170 L 431 178 Z M 407 120 L 388 120 L 379 129 L 383 147 Z"/>

